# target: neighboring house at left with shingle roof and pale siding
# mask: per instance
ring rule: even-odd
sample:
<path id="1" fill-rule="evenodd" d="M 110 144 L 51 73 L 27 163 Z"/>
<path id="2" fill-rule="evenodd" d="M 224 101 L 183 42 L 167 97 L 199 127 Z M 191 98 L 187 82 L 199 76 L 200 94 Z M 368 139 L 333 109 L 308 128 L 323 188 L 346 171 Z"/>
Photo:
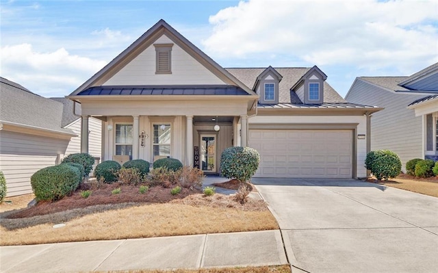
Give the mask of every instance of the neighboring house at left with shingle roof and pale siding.
<path id="1" fill-rule="evenodd" d="M 81 119 L 73 115 L 72 101 L 44 98 L 2 77 L 0 97 L 0 170 L 8 196 L 28 194 L 34 172 L 80 152 Z M 100 158 L 101 121 L 95 118 L 90 119 L 90 143 L 90 152 Z"/>

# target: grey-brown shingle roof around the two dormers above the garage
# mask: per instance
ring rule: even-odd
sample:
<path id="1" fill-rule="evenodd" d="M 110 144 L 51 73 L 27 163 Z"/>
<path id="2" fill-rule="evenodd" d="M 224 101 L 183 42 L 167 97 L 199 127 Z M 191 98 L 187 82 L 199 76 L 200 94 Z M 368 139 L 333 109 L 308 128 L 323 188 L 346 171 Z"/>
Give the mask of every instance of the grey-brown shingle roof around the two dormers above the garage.
<path id="1" fill-rule="evenodd" d="M 257 77 L 266 68 L 225 68 L 248 88 L 253 89 Z M 279 83 L 279 103 L 302 103 L 295 92 L 290 88 L 311 68 L 274 68 L 283 79 Z M 326 81 L 324 81 L 324 103 L 345 103 L 340 96 Z"/>

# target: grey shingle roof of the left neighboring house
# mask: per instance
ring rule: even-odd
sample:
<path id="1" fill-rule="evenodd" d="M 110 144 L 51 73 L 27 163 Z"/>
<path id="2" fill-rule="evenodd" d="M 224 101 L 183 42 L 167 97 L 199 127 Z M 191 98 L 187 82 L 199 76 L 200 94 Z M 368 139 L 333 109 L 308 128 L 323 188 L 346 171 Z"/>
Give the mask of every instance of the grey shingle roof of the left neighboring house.
<path id="1" fill-rule="evenodd" d="M 34 94 L 2 77 L 0 97 L 2 122 L 73 134 L 73 131 L 61 127 L 62 103 Z"/>

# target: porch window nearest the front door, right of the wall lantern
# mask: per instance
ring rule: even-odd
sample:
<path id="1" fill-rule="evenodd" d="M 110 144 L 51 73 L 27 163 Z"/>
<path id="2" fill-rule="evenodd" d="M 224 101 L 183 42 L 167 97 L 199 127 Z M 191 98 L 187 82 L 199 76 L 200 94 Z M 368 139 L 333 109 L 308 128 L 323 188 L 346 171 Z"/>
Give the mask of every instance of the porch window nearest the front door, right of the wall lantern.
<path id="1" fill-rule="evenodd" d="M 153 125 L 153 160 L 164 157 L 170 157 L 170 148 L 172 143 L 172 131 L 170 124 Z"/>

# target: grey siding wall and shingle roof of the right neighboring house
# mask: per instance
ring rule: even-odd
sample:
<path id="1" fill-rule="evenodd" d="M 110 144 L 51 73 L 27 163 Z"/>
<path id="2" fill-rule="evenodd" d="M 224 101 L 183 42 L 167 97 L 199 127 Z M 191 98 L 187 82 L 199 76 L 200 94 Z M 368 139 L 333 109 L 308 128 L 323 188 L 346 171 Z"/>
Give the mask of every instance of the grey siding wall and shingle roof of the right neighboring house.
<path id="1" fill-rule="evenodd" d="M 371 150 L 385 149 L 397 153 L 403 171 L 407 161 L 423 158 L 422 117 L 415 117 L 414 110 L 407 109 L 410 103 L 423 96 L 391 92 L 361 79 L 355 81 L 346 96 L 350 103 L 385 108 L 372 114 Z"/>

